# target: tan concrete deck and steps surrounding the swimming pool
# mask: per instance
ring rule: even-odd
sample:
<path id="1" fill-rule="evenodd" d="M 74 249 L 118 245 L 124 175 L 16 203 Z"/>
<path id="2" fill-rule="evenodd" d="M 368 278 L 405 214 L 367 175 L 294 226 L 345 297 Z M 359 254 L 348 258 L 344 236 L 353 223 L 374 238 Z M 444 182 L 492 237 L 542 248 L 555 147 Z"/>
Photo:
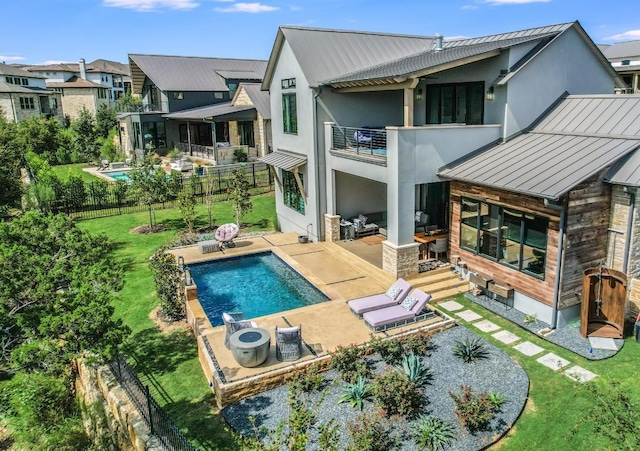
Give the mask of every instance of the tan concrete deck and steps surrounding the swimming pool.
<path id="1" fill-rule="evenodd" d="M 351 313 L 347 300 L 386 291 L 395 281 L 390 274 L 334 243 L 300 244 L 295 233 L 241 236 L 234 242 L 235 247 L 222 252 L 201 254 L 195 245 L 176 248 L 172 252 L 184 258 L 185 264 L 189 265 L 270 250 L 311 281 L 330 300 L 254 318 L 260 327 L 270 332 L 271 352 L 262 365 L 245 368 L 235 362 L 231 351 L 224 346 L 225 327 L 211 326 L 197 300 L 197 292 L 193 288 L 187 289 L 187 319 L 198 339 L 200 362 L 219 406 L 282 384 L 291 376 L 292 367 L 306 366 L 312 362 L 326 363 L 330 352 L 340 345 L 362 344 L 371 339 L 373 332 L 362 319 Z M 458 281 L 448 268 L 426 275 L 419 274 L 407 280 L 414 287 L 431 293 L 434 301 L 468 289 L 467 282 Z M 441 314 L 374 335 L 393 336 L 452 324 L 451 318 Z M 303 356 L 295 362 L 279 362 L 275 358 L 275 328 L 297 325 L 302 327 Z"/>

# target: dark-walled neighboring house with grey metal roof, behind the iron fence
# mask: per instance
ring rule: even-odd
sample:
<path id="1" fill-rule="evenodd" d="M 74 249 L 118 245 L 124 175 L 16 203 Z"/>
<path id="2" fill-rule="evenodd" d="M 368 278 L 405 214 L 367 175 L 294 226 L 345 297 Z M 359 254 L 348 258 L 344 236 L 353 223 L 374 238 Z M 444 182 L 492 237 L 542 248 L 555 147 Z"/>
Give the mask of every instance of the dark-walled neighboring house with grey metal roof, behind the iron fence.
<path id="1" fill-rule="evenodd" d="M 118 116 L 121 148 L 141 154 L 150 148 L 166 152 L 175 143 L 210 147 L 230 142 L 235 137 L 228 121 L 214 128 L 211 122 L 191 121 L 195 117 L 165 116 L 229 103 L 240 83 L 262 81 L 266 65 L 261 60 L 129 55 L 132 94 L 141 104 Z"/>

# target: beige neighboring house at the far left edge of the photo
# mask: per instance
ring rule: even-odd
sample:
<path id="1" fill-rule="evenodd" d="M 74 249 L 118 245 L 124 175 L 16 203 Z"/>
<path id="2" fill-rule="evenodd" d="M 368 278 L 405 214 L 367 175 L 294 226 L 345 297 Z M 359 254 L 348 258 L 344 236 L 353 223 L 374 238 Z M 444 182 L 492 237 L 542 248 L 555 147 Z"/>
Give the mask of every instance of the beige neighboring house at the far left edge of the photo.
<path id="1" fill-rule="evenodd" d="M 0 64 L 0 109 L 10 122 L 32 116 L 62 120 L 60 94 L 47 89 L 44 77 Z"/>

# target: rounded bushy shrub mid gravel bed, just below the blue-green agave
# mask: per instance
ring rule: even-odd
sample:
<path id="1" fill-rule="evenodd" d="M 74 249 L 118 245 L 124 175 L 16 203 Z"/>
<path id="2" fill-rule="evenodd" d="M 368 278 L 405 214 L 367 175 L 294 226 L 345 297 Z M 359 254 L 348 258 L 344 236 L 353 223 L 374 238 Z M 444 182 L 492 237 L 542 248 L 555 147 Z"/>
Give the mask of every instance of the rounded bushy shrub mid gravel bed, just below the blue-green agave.
<path id="1" fill-rule="evenodd" d="M 373 397 L 388 415 L 415 414 L 422 407 L 423 393 L 406 374 L 392 369 L 372 384 Z"/>

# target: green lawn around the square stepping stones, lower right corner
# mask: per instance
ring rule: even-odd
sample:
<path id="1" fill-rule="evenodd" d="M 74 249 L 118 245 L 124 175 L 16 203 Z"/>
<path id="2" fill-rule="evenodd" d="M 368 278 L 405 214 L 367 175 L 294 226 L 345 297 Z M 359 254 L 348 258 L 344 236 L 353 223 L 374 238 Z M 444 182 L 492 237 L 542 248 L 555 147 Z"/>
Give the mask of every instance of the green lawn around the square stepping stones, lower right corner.
<path id="1" fill-rule="evenodd" d="M 622 350 L 614 357 L 591 361 L 539 338 L 474 304 L 464 295 L 458 295 L 456 301 L 482 315 L 484 319 L 488 319 L 502 329 L 519 336 L 521 340 L 517 343 L 530 341 L 544 348 L 547 352 L 553 352 L 569 360 L 572 364 L 597 374 L 598 377 L 594 380 L 596 384 L 603 385 L 605 379 L 617 381 L 632 400 L 636 403 L 640 401 L 640 386 L 637 384 L 635 373 L 638 362 L 640 362 L 640 344 L 635 343 L 633 337 L 626 339 Z M 529 401 L 524 412 L 507 437 L 490 449 L 500 449 L 501 451 L 614 449 L 605 437 L 593 432 L 589 423 L 584 424 L 574 437 L 570 437 L 571 428 L 587 414 L 593 405 L 591 394 L 582 384 L 569 379 L 561 371 L 552 371 L 536 362 L 535 359 L 544 353 L 533 357 L 525 356 L 513 349 L 512 346 L 494 339 L 490 333 L 481 332 L 462 320 L 460 322 L 507 352 L 522 365 L 530 378 Z"/>

